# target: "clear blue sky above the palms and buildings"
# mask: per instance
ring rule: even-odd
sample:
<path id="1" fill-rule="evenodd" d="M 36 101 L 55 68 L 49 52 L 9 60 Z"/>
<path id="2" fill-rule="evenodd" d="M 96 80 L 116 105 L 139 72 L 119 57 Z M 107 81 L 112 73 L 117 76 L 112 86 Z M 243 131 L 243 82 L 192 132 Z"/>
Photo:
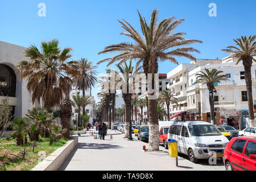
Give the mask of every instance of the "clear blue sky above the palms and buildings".
<path id="1" fill-rule="evenodd" d="M 38 16 L 38 4 L 46 4 L 46 17 Z M 217 17 L 210 17 L 209 3 L 216 3 Z M 185 38 L 199 39 L 199 59 L 222 59 L 227 53 L 220 49 L 233 45 L 233 38 L 255 35 L 255 0 L 23 0 L 0 1 L 0 40 L 19 46 L 40 45 L 42 40 L 59 39 L 61 47 L 72 47 L 77 60 L 86 57 L 93 63 L 108 55 L 97 55 L 105 46 L 130 41 L 123 35 L 117 19 L 125 19 L 140 30 L 137 9 L 149 21 L 152 10 L 159 9 L 159 20 L 170 16 L 184 18 L 175 32 L 186 32 Z M 179 64 L 189 63 L 178 59 Z M 176 65 L 160 63 L 159 73 L 168 73 Z M 104 73 L 101 64 L 99 73 Z M 95 96 L 95 92 L 94 96 Z"/>

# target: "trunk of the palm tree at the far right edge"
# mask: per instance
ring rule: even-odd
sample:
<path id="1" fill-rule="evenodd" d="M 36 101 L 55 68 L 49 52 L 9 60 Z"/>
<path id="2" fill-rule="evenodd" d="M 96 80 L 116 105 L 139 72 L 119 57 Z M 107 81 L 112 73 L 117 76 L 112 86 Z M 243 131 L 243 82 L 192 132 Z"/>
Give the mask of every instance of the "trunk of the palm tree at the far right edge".
<path id="1" fill-rule="evenodd" d="M 255 127 L 254 110 L 253 110 L 253 91 L 251 89 L 251 64 L 247 65 L 244 62 L 246 61 L 243 61 L 243 67 L 245 68 L 245 82 L 246 82 L 246 90 L 247 90 L 249 120 L 250 120 L 251 127 Z"/>

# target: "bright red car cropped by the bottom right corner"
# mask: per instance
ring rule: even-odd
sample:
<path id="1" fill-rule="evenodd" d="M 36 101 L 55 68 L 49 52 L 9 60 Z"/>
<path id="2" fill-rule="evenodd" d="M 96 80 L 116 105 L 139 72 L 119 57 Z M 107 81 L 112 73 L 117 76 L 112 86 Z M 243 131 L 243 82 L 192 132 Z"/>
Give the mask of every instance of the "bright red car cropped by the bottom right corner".
<path id="1" fill-rule="evenodd" d="M 224 150 L 226 171 L 256 171 L 256 137 L 235 137 Z"/>

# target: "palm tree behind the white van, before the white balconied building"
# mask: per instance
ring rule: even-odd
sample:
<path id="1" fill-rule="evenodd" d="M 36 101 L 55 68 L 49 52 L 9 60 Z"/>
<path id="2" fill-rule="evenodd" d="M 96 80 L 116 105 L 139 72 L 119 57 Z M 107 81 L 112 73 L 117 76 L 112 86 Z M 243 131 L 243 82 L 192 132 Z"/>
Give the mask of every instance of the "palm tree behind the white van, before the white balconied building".
<path id="1" fill-rule="evenodd" d="M 217 71 L 217 69 L 207 69 L 205 68 L 204 71 L 201 71 L 200 73 L 197 73 L 197 80 L 194 84 L 202 84 L 207 85 L 207 88 L 209 90 L 209 103 L 210 103 L 210 122 L 212 124 L 214 123 L 214 96 L 213 96 L 213 90 L 215 89 L 214 84 L 220 83 L 221 81 L 229 80 L 226 78 L 226 75 L 220 75 L 220 73 L 223 73 L 222 71 Z"/>

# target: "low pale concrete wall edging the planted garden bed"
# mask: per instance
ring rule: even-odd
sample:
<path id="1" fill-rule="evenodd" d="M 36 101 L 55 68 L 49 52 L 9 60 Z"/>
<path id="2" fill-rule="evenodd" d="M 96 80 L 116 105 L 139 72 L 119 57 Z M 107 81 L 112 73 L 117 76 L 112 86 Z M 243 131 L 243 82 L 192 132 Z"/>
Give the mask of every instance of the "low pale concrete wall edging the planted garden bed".
<path id="1" fill-rule="evenodd" d="M 76 147 L 78 143 L 78 137 L 73 137 L 64 146 L 57 148 L 46 159 L 38 163 L 31 171 L 56 171 L 60 168 L 61 164 L 68 157 L 70 152 Z"/>

